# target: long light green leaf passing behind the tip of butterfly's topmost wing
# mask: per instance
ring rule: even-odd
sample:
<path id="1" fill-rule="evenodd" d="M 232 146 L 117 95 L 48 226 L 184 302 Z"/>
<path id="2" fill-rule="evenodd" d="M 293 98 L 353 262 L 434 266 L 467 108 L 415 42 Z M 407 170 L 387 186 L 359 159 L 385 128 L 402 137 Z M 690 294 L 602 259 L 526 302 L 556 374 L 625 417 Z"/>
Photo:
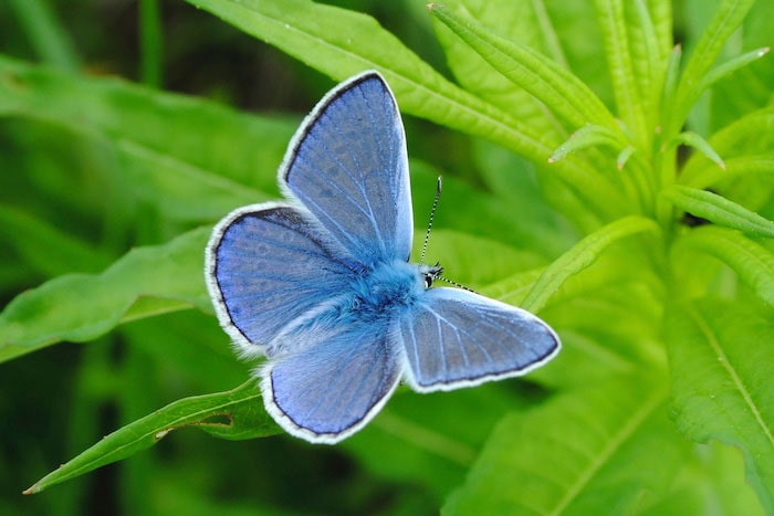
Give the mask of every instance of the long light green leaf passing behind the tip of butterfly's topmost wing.
<path id="1" fill-rule="evenodd" d="M 336 81 L 378 70 L 401 110 L 547 156 L 540 135 L 446 81 L 372 17 L 308 0 L 188 1 Z"/>

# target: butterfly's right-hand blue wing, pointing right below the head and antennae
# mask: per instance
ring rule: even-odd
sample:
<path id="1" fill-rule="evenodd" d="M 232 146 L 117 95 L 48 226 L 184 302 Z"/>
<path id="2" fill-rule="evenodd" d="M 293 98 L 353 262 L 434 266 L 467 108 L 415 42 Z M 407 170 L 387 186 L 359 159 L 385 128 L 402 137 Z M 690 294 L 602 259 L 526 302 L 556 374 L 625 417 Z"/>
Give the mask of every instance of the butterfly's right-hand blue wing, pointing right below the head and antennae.
<path id="1" fill-rule="evenodd" d="M 521 308 L 458 288 L 431 288 L 398 323 L 407 379 L 450 390 L 524 375 L 559 350 L 548 325 Z"/>

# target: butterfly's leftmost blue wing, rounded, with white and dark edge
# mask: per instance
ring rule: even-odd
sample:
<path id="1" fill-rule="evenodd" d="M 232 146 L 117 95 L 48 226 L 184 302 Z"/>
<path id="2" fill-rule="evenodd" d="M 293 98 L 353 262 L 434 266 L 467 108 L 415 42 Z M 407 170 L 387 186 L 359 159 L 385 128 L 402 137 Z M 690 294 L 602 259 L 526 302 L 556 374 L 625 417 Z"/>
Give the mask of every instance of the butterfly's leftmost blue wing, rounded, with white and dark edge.
<path id="1" fill-rule="evenodd" d="M 271 356 L 262 345 L 354 275 L 346 253 L 308 215 L 281 203 L 232 212 L 212 232 L 206 257 L 218 318 L 247 354 Z"/>

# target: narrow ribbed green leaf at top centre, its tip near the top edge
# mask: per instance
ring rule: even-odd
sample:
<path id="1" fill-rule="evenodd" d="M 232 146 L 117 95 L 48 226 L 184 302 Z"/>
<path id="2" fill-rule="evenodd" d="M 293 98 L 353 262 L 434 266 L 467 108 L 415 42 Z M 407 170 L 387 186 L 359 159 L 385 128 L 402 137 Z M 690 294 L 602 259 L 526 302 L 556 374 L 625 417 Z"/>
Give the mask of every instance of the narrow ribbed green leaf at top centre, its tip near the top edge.
<path id="1" fill-rule="evenodd" d="M 501 38 L 444 6 L 431 3 L 429 9 L 498 72 L 543 102 L 571 127 L 598 124 L 617 129 L 604 104 L 566 69 L 530 46 Z"/>

